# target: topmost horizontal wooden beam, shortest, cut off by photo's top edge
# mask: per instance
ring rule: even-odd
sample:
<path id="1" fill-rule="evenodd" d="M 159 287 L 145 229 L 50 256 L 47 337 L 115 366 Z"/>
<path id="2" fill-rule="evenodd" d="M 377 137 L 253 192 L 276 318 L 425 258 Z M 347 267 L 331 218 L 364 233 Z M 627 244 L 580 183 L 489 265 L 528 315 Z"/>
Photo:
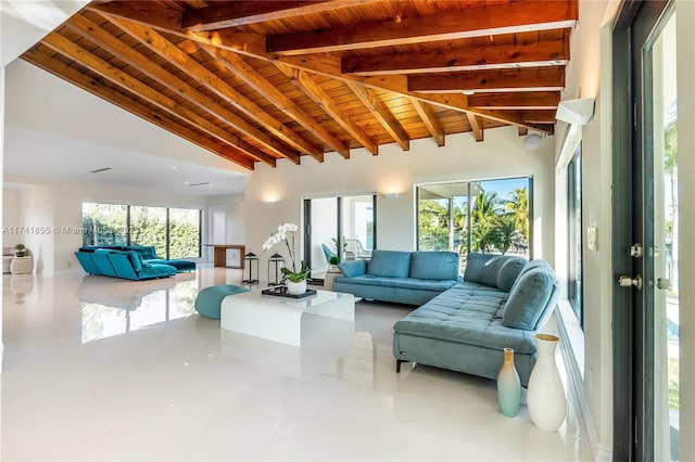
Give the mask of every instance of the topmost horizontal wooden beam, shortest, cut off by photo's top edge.
<path id="1" fill-rule="evenodd" d="M 365 0 L 330 1 L 233 1 L 211 4 L 184 13 L 182 26 L 192 31 L 206 31 L 255 24 L 263 21 L 287 20 L 304 14 L 323 13 L 339 8 L 364 4 Z"/>

